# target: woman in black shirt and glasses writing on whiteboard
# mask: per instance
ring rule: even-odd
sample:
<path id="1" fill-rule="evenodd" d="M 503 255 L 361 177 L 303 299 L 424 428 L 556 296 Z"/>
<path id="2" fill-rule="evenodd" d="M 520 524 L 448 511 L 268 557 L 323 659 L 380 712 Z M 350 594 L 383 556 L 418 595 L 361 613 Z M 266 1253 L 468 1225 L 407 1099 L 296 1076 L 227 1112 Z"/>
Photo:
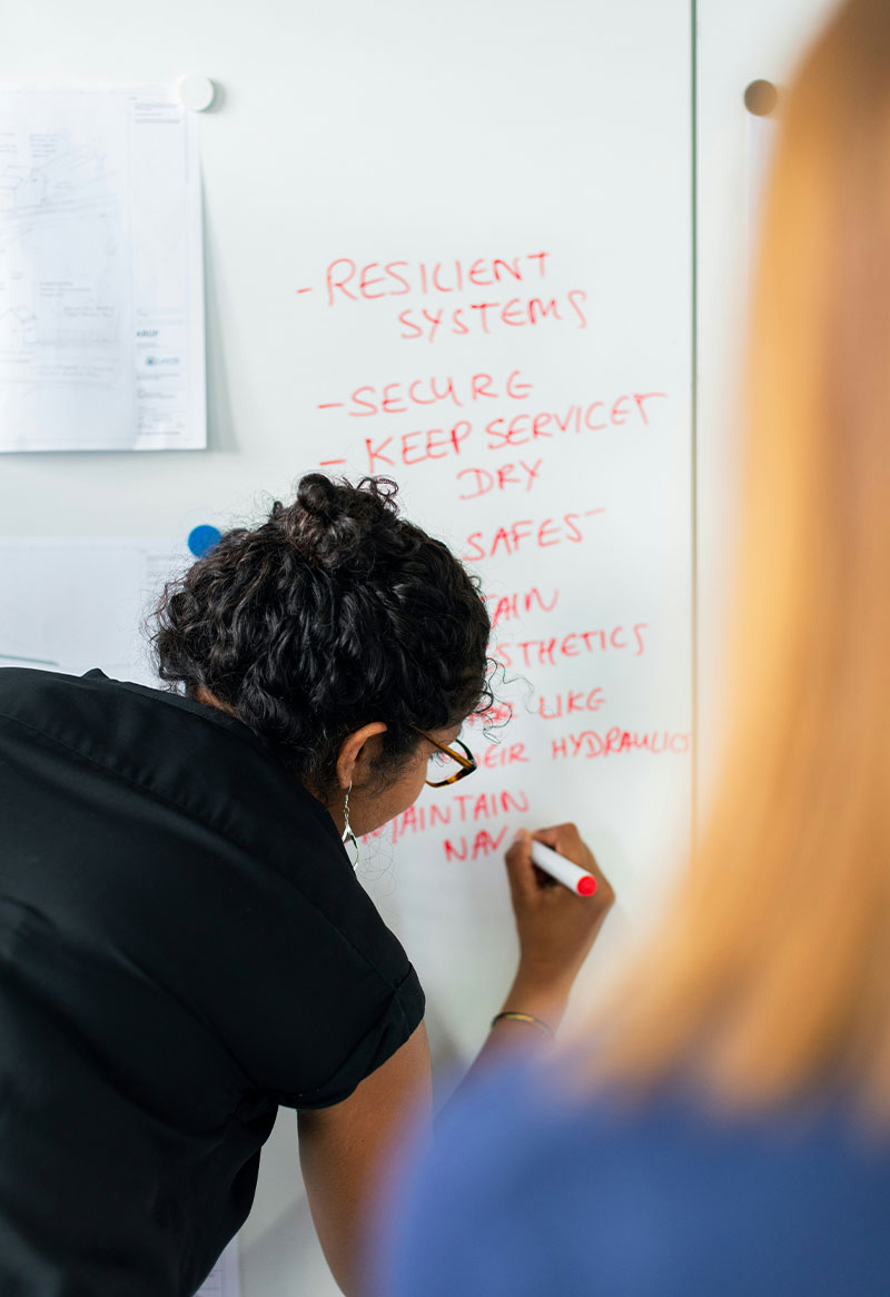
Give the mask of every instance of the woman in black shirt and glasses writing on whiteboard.
<path id="1" fill-rule="evenodd" d="M 167 589 L 161 693 L 0 671 L 0 1292 L 189 1297 L 279 1105 L 357 1288 L 381 1154 L 429 1102 L 423 992 L 344 842 L 475 761 L 489 619 L 388 484 L 305 477 Z M 570 827 L 544 837 L 595 869 Z M 554 1025 L 608 907 L 509 857 L 505 1009 Z M 518 1032 L 501 1019 L 483 1054 Z"/>

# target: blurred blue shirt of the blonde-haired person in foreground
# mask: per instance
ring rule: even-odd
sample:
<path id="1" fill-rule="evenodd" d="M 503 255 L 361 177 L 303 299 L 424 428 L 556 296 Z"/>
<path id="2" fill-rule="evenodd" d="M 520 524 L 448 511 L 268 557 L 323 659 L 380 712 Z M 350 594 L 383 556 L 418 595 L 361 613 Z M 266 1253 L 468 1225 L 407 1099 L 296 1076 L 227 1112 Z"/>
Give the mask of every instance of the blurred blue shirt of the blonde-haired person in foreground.
<path id="1" fill-rule="evenodd" d="M 838 1108 L 579 1105 L 511 1071 L 448 1113 L 392 1222 L 380 1297 L 887 1297 L 890 1144 Z"/>

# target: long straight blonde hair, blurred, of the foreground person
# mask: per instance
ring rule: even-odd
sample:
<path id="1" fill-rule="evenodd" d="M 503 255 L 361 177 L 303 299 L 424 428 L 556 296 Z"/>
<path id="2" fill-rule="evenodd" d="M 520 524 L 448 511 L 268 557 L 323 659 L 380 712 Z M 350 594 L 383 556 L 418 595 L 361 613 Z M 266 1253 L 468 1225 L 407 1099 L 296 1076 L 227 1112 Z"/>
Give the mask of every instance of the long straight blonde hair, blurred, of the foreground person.
<path id="1" fill-rule="evenodd" d="M 750 345 L 727 768 L 606 1073 L 890 1117 L 890 5 L 851 0 L 782 113 Z"/>

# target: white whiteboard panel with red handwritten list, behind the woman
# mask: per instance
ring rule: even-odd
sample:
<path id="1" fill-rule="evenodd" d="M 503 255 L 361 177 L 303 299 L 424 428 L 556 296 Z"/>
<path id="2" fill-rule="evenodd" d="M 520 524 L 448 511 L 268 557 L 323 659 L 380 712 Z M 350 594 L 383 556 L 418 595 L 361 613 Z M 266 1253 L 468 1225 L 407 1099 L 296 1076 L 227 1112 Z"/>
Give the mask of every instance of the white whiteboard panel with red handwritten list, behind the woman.
<path id="1" fill-rule="evenodd" d="M 143 22 L 36 0 L 17 38 L 9 79 L 196 69 L 222 93 L 200 121 L 210 449 L 10 455 L 4 533 L 176 545 L 257 518 L 320 463 L 366 472 L 370 440 L 409 516 L 485 555 L 518 716 L 490 765 L 424 794 L 426 827 L 383 835 L 363 865 L 426 983 L 436 1052 L 466 1057 L 512 971 L 510 833 L 573 817 L 593 843 L 620 898 L 598 981 L 689 826 L 689 5 L 160 0 Z M 424 309 L 446 313 L 432 340 Z M 423 405 L 433 380 L 445 397 Z M 357 389 L 379 412 L 355 412 Z M 335 1289 L 292 1118 L 279 1127 L 244 1291 L 320 1297 Z"/>

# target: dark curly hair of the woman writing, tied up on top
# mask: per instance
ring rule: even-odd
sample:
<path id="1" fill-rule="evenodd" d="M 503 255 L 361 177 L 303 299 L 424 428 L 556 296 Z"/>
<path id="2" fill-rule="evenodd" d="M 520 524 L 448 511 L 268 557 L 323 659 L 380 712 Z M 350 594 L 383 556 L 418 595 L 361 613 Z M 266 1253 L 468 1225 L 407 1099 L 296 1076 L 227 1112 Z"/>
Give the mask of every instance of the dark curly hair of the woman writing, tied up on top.
<path id="1" fill-rule="evenodd" d="M 490 620 L 450 550 L 398 516 L 397 486 L 310 473 L 293 505 L 226 532 L 154 612 L 162 680 L 208 690 L 298 778 L 336 782 L 340 744 L 384 721 L 380 776 L 492 704 Z"/>

